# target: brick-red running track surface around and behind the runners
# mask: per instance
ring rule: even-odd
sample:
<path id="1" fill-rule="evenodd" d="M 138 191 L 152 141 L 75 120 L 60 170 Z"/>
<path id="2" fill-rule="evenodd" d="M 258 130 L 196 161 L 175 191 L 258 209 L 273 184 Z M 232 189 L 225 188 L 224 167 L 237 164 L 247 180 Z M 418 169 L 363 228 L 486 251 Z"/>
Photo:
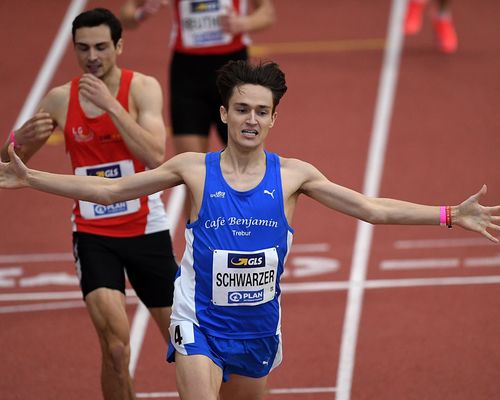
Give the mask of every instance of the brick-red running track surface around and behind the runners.
<path id="1" fill-rule="evenodd" d="M 283 67 L 289 83 L 268 148 L 308 160 L 332 180 L 361 191 L 393 4 L 314 0 L 305 9 L 303 1 L 275 3 L 278 23 L 254 35 L 265 57 Z M 102 4 L 89 1 L 87 6 Z M 115 11 L 119 5 L 118 0 L 106 2 Z M 62 0 L 0 5 L 0 131 L 5 135 L 67 6 Z M 382 196 L 456 204 L 487 183 L 484 202 L 499 202 L 500 4 L 462 0 L 454 2 L 453 12 L 457 54 L 435 50 L 428 20 L 418 36 L 405 40 L 381 170 Z M 163 11 L 140 30 L 126 32 L 120 60 L 158 77 L 164 86 L 166 21 Z M 77 73 L 68 47 L 49 86 Z M 55 142 L 31 165 L 69 172 L 63 153 L 63 144 Z M 168 201 L 169 194 L 165 197 Z M 100 398 L 98 343 L 69 256 L 71 204 L 34 191 L 0 192 L 2 399 Z M 353 367 L 352 382 L 346 384 L 338 374 L 345 377 L 350 371 L 340 363 L 340 353 L 346 352 L 342 332 L 349 320 L 345 313 L 354 255 L 365 254 L 355 247 L 360 228 L 307 199 L 293 226 L 294 252 L 283 280 L 285 358 L 271 375 L 269 399 L 499 396 L 498 246 L 460 229 L 375 227 L 371 245 L 362 249 L 367 270 L 358 298 L 359 324 L 354 324 L 358 334 L 347 338 L 355 340 L 355 352 L 347 352 Z M 182 246 L 178 227 L 178 254 Z M 38 298 L 46 294 L 60 298 Z M 127 310 L 134 320 L 133 297 Z M 175 392 L 174 369 L 164 362 L 164 352 L 149 324 L 135 369 L 140 397 L 166 398 Z"/>

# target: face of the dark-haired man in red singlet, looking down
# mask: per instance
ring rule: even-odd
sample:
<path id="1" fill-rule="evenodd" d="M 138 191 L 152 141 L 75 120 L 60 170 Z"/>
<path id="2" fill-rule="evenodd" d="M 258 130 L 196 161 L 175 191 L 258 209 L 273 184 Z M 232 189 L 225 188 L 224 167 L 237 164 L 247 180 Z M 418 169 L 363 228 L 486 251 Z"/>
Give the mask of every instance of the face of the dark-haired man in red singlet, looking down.
<path id="1" fill-rule="evenodd" d="M 75 54 L 80 68 L 98 78 L 104 77 L 122 52 L 122 40 L 113 44 L 107 25 L 79 28 L 75 32 Z"/>

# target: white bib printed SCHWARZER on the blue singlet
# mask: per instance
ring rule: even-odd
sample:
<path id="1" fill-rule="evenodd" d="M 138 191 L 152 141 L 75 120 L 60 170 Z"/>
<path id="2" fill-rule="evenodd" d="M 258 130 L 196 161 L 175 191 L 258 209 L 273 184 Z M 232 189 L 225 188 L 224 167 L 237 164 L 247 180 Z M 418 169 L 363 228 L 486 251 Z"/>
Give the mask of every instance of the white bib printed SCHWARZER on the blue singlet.
<path id="1" fill-rule="evenodd" d="M 212 301 L 218 306 L 256 306 L 274 299 L 278 253 L 215 250 Z"/>

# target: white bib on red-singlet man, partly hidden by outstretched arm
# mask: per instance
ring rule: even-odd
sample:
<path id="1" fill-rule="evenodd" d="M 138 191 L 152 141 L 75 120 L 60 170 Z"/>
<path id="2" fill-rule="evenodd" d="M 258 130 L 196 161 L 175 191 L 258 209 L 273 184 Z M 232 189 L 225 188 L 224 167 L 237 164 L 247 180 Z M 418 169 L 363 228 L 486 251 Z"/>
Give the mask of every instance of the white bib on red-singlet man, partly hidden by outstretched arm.
<path id="1" fill-rule="evenodd" d="M 120 178 L 135 173 L 132 160 L 122 160 L 107 164 L 98 164 L 75 169 L 75 175 L 101 176 L 104 178 Z M 80 214 L 85 219 L 98 219 L 118 217 L 127 215 L 139 210 L 141 203 L 139 199 L 121 201 L 109 206 L 79 200 Z"/>

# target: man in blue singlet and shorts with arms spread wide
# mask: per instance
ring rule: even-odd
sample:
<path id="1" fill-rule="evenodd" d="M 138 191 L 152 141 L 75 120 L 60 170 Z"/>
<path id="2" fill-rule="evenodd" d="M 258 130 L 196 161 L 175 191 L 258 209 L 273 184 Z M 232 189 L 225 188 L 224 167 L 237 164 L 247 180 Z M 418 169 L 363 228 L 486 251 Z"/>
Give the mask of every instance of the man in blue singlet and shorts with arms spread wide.
<path id="1" fill-rule="evenodd" d="M 262 399 L 281 361 L 280 276 L 290 251 L 297 199 L 373 224 L 458 225 L 498 242 L 500 206 L 484 207 L 486 186 L 458 206 L 370 198 L 328 180 L 313 165 L 264 150 L 286 91 L 274 63 L 232 61 L 217 80 L 228 145 L 183 153 L 162 166 L 119 179 L 54 175 L 26 168 L 9 147 L 0 188 L 38 190 L 109 204 L 186 184 L 191 215 L 175 281 L 168 359 L 184 400 Z M 224 382 L 224 383 L 223 383 Z"/>

